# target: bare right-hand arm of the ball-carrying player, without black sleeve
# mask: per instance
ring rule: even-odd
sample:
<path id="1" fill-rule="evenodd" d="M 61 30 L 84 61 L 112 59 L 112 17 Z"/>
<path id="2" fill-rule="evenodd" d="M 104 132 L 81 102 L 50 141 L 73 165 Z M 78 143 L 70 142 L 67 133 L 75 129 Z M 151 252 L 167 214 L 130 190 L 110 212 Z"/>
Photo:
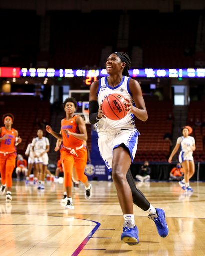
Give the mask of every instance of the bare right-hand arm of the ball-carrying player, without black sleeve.
<path id="1" fill-rule="evenodd" d="M 134 103 L 136 107 L 133 106 L 128 99 L 126 99 L 129 101 L 127 103 L 127 105 L 129 106 L 127 109 L 129 110 L 129 112 L 133 113 L 139 120 L 145 122 L 148 119 L 148 114 L 147 114 L 145 102 L 142 96 L 141 86 L 136 80 L 130 79 L 129 89 L 132 93 L 132 97 L 134 99 Z"/>

